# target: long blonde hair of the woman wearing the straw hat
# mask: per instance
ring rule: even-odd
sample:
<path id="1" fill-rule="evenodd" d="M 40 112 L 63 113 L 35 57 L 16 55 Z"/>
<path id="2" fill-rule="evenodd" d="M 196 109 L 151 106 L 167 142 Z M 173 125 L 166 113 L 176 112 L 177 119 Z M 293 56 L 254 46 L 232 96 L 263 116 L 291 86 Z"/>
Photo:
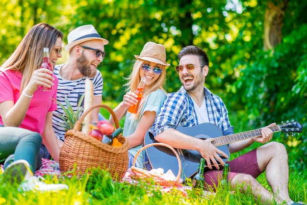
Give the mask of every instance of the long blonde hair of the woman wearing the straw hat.
<path id="1" fill-rule="evenodd" d="M 143 63 L 145 62 L 145 60 L 141 60 L 141 59 L 137 59 L 137 60 L 133 60 L 132 61 L 132 72 L 131 74 L 126 77 L 125 79 L 128 80 L 128 83 L 124 84 L 124 86 L 127 86 L 126 88 L 126 92 L 134 92 L 137 89 L 137 86 L 139 85 L 140 81 L 141 81 L 141 77 L 140 77 L 140 69 L 141 69 L 141 65 L 143 65 Z M 163 89 L 163 85 L 165 82 L 165 76 L 166 76 L 166 70 L 165 70 L 165 66 L 164 65 L 160 65 L 160 68 L 162 70 L 161 75 L 158 77 L 158 79 L 153 82 L 153 84 L 151 84 L 151 87 L 148 90 L 145 90 L 143 92 L 143 99 L 141 101 L 141 103 L 139 104 L 139 108 L 137 110 L 137 113 L 135 114 L 135 119 L 138 119 L 141 115 L 141 110 L 143 108 L 144 103 L 146 102 L 148 96 L 153 92 L 156 91 L 157 89 L 161 89 L 165 92 L 165 90 Z"/>

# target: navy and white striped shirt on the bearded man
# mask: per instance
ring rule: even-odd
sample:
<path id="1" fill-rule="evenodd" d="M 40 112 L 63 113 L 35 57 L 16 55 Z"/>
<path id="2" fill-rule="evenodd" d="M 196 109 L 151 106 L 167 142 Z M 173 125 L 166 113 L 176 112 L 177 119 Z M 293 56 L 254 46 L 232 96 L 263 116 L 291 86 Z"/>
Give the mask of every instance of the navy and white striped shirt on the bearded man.
<path id="1" fill-rule="evenodd" d="M 76 111 L 79 99 L 85 92 L 85 79 L 87 77 L 80 77 L 77 80 L 63 79 L 59 74 L 63 65 L 64 64 L 56 65 L 53 70 L 53 73 L 59 80 L 56 98 L 59 103 L 66 107 L 65 97 L 67 97 L 69 102 L 72 104 L 73 110 Z M 97 70 L 96 76 L 89 79 L 92 80 L 94 85 L 94 96 L 102 96 L 103 80 L 100 71 Z M 61 127 L 63 120 L 57 116 L 58 114 L 64 114 L 64 110 L 59 105 L 57 105 L 57 109 L 53 111 L 52 127 L 56 137 L 64 141 L 64 135 L 66 132 L 64 131 L 64 128 Z"/>

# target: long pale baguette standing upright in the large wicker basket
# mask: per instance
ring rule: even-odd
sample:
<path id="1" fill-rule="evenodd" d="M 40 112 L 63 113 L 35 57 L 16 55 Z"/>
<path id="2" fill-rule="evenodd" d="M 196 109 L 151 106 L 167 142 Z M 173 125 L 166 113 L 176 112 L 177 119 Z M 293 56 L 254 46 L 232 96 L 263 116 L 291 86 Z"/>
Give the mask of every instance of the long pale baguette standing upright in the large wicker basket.
<path id="1" fill-rule="evenodd" d="M 93 105 L 94 99 L 94 86 L 93 82 L 86 78 L 85 79 L 85 92 L 84 92 L 84 111 L 86 111 L 89 107 Z M 83 126 L 81 131 L 84 134 L 90 133 L 90 122 L 91 122 L 92 111 L 90 111 L 83 120 Z"/>

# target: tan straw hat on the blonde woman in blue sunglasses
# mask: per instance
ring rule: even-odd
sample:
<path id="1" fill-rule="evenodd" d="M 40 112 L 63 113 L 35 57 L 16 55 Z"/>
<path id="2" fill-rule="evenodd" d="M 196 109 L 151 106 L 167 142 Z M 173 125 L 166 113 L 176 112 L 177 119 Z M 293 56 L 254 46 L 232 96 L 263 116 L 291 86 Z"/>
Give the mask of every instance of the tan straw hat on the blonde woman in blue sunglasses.
<path id="1" fill-rule="evenodd" d="M 166 63 L 165 47 L 162 44 L 147 42 L 140 55 L 134 55 L 136 59 L 147 60 L 153 63 L 158 63 L 165 66 L 170 66 Z"/>

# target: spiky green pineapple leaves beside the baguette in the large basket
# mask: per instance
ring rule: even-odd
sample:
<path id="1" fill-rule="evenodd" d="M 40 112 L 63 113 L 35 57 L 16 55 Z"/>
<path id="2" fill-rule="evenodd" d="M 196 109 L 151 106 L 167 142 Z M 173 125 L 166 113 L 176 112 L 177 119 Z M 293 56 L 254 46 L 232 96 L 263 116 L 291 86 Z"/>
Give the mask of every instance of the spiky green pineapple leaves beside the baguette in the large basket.
<path id="1" fill-rule="evenodd" d="M 66 103 L 66 107 L 59 103 L 58 101 L 56 101 L 56 103 L 58 105 L 60 105 L 60 107 L 64 110 L 64 114 L 63 115 L 57 115 L 59 118 L 61 118 L 64 123 L 62 123 L 62 127 L 65 129 L 65 131 L 69 130 L 69 129 L 73 129 L 75 123 L 77 122 L 77 120 L 80 118 L 82 112 L 83 112 L 83 107 L 81 106 L 81 103 L 83 101 L 84 95 L 81 96 L 79 102 L 78 102 L 78 107 L 77 107 L 77 111 L 74 112 L 73 107 L 71 105 L 71 103 L 68 101 L 68 98 L 65 97 L 65 103 Z"/>

